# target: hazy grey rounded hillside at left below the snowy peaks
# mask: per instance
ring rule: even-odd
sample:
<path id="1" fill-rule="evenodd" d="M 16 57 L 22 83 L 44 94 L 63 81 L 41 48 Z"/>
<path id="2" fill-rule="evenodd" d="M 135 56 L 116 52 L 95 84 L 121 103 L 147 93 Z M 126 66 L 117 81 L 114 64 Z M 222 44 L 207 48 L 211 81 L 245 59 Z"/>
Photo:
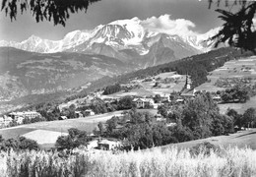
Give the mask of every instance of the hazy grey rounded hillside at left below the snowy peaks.
<path id="1" fill-rule="evenodd" d="M 87 85 L 104 76 L 133 71 L 133 65 L 103 55 L 32 53 L 0 48 L 0 100 Z"/>

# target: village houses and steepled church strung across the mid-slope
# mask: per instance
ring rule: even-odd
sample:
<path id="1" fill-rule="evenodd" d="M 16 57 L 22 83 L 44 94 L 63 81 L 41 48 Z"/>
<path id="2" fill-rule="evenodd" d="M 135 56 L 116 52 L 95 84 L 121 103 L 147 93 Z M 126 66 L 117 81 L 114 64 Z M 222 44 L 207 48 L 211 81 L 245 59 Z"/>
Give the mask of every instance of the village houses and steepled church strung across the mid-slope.
<path id="1" fill-rule="evenodd" d="M 129 87 L 134 88 L 134 86 L 138 86 L 138 81 L 135 84 L 132 82 L 131 84 L 123 85 L 123 88 L 129 88 Z M 124 93 L 121 93 L 120 95 L 116 95 L 116 94 L 103 95 L 102 92 L 103 91 L 96 91 L 96 92 L 90 93 L 84 98 L 78 98 L 78 99 L 68 101 L 66 103 L 62 103 L 58 105 L 58 109 L 60 112 L 62 112 L 66 108 L 69 108 L 71 105 L 75 105 L 76 108 L 82 105 L 90 105 L 92 100 L 94 99 L 101 99 L 104 103 L 113 103 L 113 102 L 119 101 L 124 96 L 130 96 L 132 98 L 133 104 L 135 104 L 136 108 L 138 109 L 158 109 L 160 105 L 167 102 L 184 103 L 186 98 L 195 96 L 196 89 L 191 88 L 191 81 L 189 79 L 189 76 L 186 76 L 185 85 L 181 89 L 180 94 L 178 92 L 171 93 L 169 91 L 169 93 L 160 92 L 159 94 L 156 94 L 155 92 L 152 92 L 148 95 L 143 95 L 143 94 L 138 94 L 137 92 L 134 92 L 133 94 L 133 92 L 129 91 L 129 89 L 125 89 Z M 217 101 L 221 100 L 220 95 L 214 96 L 213 98 Z M 67 117 L 66 115 L 60 115 L 57 119 L 66 120 L 68 118 L 70 119 L 82 118 L 82 117 L 86 118 L 87 116 L 96 115 L 96 112 L 94 112 L 94 110 L 92 109 L 86 109 L 83 111 L 75 110 L 74 113 L 75 113 L 74 117 Z M 14 123 L 14 125 L 21 125 L 21 124 L 24 124 L 25 119 L 32 120 L 35 118 L 41 118 L 41 116 L 42 115 L 39 112 L 36 112 L 35 109 L 10 112 L 0 117 L 0 127 L 1 128 L 8 127 L 8 126 L 11 126 L 12 123 Z"/>

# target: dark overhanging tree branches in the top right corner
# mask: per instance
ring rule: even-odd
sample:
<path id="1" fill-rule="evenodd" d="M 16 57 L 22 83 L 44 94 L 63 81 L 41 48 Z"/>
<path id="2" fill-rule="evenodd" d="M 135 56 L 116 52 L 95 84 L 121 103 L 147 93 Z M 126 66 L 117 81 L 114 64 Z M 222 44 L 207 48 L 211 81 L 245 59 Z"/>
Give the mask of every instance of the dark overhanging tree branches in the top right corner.
<path id="1" fill-rule="evenodd" d="M 211 8 L 213 0 L 209 1 Z M 220 5 L 221 0 L 218 0 Z M 225 0 L 228 6 L 228 0 Z M 217 9 L 221 15 L 220 19 L 224 21 L 223 28 L 214 36 L 210 38 L 217 47 L 222 42 L 227 42 L 230 46 L 243 48 L 245 50 L 256 52 L 256 30 L 253 26 L 253 18 L 256 13 L 255 1 L 238 1 L 240 9 L 237 12 L 225 11 Z M 237 0 L 233 1 L 233 5 L 237 5 Z"/>

